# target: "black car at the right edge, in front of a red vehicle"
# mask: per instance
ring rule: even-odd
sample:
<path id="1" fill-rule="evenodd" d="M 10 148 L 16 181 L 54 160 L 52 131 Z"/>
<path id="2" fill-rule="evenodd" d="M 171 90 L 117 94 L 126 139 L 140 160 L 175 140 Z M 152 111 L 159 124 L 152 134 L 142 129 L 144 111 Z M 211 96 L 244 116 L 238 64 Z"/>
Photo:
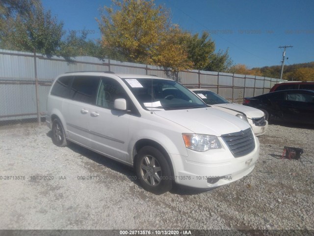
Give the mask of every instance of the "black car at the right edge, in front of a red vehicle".
<path id="1" fill-rule="evenodd" d="M 244 98 L 243 105 L 265 113 L 269 120 L 314 124 L 314 91 L 290 89 Z"/>

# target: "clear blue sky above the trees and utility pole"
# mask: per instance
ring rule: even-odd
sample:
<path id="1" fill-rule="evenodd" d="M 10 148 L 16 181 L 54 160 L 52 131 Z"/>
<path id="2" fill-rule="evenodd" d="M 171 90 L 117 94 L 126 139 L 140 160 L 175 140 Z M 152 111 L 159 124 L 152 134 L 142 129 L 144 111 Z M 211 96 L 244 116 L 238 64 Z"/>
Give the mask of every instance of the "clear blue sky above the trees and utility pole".
<path id="1" fill-rule="evenodd" d="M 99 8 L 111 0 L 42 0 L 45 9 L 63 20 L 64 29 L 88 30 L 101 38 Z M 171 10 L 172 23 L 192 33 L 207 30 L 216 50 L 249 68 L 314 61 L 314 0 L 155 0 Z M 287 60 L 288 57 L 288 60 Z"/>

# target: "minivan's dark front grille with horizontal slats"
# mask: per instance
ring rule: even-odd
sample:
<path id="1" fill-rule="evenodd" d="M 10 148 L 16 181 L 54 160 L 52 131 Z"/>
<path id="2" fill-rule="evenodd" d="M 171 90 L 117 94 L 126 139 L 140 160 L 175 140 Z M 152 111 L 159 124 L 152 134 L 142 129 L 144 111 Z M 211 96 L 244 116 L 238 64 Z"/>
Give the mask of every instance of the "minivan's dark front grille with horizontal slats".
<path id="1" fill-rule="evenodd" d="M 234 157 L 244 156 L 255 148 L 255 140 L 251 128 L 243 131 L 224 134 L 221 138 L 228 145 Z"/>

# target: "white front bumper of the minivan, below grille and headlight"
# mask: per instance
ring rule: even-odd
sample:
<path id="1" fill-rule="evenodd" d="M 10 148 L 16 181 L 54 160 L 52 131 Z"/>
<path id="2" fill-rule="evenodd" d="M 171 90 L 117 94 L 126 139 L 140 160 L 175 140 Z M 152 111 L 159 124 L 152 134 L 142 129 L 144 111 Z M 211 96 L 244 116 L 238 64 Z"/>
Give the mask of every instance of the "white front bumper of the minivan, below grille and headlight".
<path id="1" fill-rule="evenodd" d="M 203 189 L 234 182 L 253 171 L 260 152 L 256 137 L 255 144 L 254 150 L 242 157 L 234 157 L 226 145 L 207 152 L 187 149 L 187 157 L 170 154 L 174 180 L 178 184 Z"/>

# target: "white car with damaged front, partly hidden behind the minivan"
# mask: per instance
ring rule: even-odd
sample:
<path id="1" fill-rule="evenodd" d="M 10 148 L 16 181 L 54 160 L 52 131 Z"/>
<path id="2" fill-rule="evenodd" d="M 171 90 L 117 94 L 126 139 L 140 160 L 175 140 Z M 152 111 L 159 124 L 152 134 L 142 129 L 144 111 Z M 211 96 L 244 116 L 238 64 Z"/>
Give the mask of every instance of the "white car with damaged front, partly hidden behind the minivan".
<path id="1" fill-rule="evenodd" d="M 228 102 L 217 93 L 214 93 L 208 89 L 190 90 L 196 93 L 206 104 L 210 105 L 211 107 L 235 115 L 236 117 L 249 122 L 256 136 L 265 133 L 268 122 L 265 120 L 265 114 L 261 110 Z"/>

